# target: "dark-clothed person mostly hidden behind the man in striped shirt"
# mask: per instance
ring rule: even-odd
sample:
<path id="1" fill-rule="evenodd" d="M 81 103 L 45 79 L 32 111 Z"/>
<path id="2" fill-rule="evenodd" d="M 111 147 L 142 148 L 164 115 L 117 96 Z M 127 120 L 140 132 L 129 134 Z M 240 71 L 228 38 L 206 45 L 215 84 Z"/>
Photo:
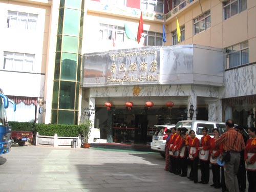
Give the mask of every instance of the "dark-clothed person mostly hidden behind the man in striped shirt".
<path id="1" fill-rule="evenodd" d="M 236 131 L 241 133 L 244 139 L 244 143 L 247 142 L 248 137 L 246 137 L 243 132 L 244 129 L 242 126 L 238 125 L 236 126 Z M 245 162 L 244 162 L 244 150 L 240 152 L 240 162 L 239 162 L 239 169 L 238 169 L 238 185 L 239 185 L 239 191 L 245 192 L 246 189 L 246 170 L 245 170 Z"/>

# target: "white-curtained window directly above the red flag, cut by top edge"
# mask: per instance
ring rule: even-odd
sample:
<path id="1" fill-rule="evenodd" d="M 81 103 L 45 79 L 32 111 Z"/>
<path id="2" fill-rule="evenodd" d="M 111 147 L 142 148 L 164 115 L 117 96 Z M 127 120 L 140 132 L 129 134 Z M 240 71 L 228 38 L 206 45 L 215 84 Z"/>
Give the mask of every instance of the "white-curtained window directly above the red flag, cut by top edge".
<path id="1" fill-rule="evenodd" d="M 142 0 L 140 7 L 142 10 L 163 13 L 163 0 Z"/>

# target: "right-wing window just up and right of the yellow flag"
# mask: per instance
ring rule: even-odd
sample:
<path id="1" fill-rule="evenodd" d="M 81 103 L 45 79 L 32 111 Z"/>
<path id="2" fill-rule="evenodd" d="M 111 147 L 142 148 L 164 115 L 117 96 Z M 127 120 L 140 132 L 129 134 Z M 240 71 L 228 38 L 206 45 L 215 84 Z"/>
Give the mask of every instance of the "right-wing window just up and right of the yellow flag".
<path id="1" fill-rule="evenodd" d="M 194 35 L 210 28 L 210 11 L 194 19 Z"/>

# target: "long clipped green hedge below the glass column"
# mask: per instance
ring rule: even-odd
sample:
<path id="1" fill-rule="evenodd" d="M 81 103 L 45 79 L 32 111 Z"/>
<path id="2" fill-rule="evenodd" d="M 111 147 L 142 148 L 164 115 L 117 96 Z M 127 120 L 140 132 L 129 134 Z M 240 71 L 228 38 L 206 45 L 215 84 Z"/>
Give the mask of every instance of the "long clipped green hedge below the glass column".
<path id="1" fill-rule="evenodd" d="M 81 125 L 68 124 L 44 124 L 31 122 L 14 122 L 9 121 L 9 125 L 13 131 L 31 131 L 34 134 L 38 132 L 39 135 L 54 136 L 55 133 L 59 137 L 77 137 L 81 135 Z"/>

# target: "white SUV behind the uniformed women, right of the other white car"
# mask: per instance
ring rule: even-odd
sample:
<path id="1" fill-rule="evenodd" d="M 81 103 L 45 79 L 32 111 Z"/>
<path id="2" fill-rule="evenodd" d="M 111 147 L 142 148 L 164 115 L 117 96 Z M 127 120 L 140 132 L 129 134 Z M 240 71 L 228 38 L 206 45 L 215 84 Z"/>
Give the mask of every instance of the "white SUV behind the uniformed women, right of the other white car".
<path id="1" fill-rule="evenodd" d="M 224 122 L 216 122 L 216 121 L 202 121 L 202 120 L 183 120 L 179 121 L 176 124 L 176 128 L 186 127 L 188 130 L 187 134 L 189 134 L 190 130 L 193 130 L 196 134 L 196 137 L 201 141 L 203 137 L 202 129 L 206 127 L 208 129 L 208 135 L 214 137 L 212 135 L 212 130 L 217 128 L 220 132 L 220 135 L 226 132 L 226 124 Z"/>

